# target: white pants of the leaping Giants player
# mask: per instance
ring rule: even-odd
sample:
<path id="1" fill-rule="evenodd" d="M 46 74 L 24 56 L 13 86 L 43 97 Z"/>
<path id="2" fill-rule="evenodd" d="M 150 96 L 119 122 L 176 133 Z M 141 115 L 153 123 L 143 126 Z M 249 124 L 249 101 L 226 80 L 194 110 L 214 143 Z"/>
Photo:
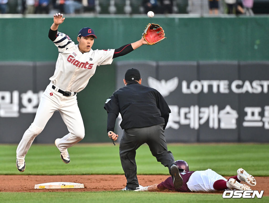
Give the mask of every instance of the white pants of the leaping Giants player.
<path id="1" fill-rule="evenodd" d="M 25 131 L 17 147 L 18 159 L 25 158 L 34 138 L 42 132 L 48 120 L 57 110 L 60 112 L 69 131 L 67 135 L 59 140 L 59 150 L 64 151 L 84 138 L 85 130 L 79 107 L 77 106 L 77 95 L 65 97 L 52 89 L 52 83 L 50 83 L 41 97 L 33 123 Z M 55 135 L 57 136 L 57 131 Z"/>

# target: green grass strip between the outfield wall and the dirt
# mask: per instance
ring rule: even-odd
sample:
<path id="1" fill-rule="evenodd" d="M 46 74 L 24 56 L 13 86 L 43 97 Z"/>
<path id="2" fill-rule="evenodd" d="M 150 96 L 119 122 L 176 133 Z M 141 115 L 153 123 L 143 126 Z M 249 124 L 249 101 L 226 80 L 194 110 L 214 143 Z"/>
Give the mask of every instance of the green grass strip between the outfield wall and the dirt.
<path id="1" fill-rule="evenodd" d="M 76 144 L 68 149 L 69 164 L 62 163 L 55 145 L 33 144 L 26 155 L 23 173 L 15 166 L 17 145 L 0 145 L 0 148 L 0 174 L 124 174 L 118 144 Z M 168 150 L 176 160 L 187 161 L 190 170 L 211 168 L 228 176 L 242 167 L 254 176 L 269 176 L 268 144 L 168 144 Z M 44 163 L 48 163 L 46 170 Z M 156 161 L 147 145 L 137 150 L 136 163 L 137 174 L 168 174 L 167 168 Z"/>

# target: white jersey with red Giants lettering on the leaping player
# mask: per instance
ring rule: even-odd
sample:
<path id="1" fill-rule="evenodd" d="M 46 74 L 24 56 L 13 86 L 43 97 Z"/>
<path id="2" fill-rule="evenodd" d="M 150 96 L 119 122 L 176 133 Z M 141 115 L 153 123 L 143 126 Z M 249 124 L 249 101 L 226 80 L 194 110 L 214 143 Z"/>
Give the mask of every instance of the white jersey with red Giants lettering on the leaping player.
<path id="1" fill-rule="evenodd" d="M 115 49 L 93 50 L 82 54 L 78 45 L 64 33 L 58 32 L 54 44 L 59 56 L 54 75 L 49 78 L 54 86 L 63 91 L 80 92 L 89 82 L 96 66 L 111 64 Z"/>

